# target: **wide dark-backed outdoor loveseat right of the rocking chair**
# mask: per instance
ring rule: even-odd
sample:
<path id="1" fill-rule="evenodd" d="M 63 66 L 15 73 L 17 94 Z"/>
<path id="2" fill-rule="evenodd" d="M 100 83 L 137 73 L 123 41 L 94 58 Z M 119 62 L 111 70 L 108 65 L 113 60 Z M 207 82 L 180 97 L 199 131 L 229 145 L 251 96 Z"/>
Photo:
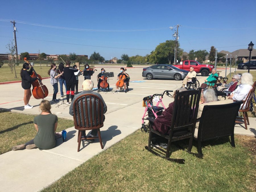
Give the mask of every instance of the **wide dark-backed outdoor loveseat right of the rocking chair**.
<path id="1" fill-rule="evenodd" d="M 234 102 L 222 105 L 205 105 L 199 121 L 198 131 L 195 132 L 198 141 L 199 156 L 203 156 L 201 142 L 231 136 L 231 145 L 235 147 L 234 127 L 236 116 L 243 102 Z M 214 121 L 209 121 L 215 119 Z"/>

